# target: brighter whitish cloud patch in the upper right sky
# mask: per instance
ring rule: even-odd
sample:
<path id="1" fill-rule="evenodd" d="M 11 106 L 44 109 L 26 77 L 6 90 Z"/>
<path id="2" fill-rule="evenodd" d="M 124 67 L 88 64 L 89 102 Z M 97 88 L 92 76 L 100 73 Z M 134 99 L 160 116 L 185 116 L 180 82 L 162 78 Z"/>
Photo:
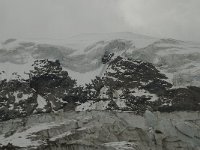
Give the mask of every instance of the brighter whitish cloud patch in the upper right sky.
<path id="1" fill-rule="evenodd" d="M 138 33 L 185 40 L 200 39 L 200 1 L 123 0 L 120 10 Z"/>

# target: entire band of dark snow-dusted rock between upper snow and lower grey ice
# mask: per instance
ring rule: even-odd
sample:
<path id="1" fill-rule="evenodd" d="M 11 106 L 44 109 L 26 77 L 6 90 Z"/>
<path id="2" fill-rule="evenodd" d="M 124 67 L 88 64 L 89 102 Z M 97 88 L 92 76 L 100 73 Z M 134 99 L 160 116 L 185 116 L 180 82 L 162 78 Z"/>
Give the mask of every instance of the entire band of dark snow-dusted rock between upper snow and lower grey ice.
<path id="1" fill-rule="evenodd" d="M 77 86 L 59 61 L 37 60 L 29 79 L 0 83 L 0 120 L 64 110 L 152 111 L 200 110 L 200 88 L 171 89 L 151 63 L 116 57 L 102 77 Z"/>

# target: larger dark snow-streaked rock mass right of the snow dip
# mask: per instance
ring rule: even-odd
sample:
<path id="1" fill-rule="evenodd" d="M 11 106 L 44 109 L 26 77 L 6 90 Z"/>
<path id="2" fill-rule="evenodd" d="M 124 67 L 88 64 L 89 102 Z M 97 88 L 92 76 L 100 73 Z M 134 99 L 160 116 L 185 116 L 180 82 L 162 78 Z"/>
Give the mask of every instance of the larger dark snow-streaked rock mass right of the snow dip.
<path id="1" fill-rule="evenodd" d="M 129 110 L 138 114 L 147 109 L 200 110 L 199 87 L 171 89 L 172 84 L 166 79 L 151 63 L 118 56 L 108 62 L 103 76 L 93 80 L 86 89 L 89 100 L 97 107 L 97 102 L 107 101 L 108 110 Z"/>

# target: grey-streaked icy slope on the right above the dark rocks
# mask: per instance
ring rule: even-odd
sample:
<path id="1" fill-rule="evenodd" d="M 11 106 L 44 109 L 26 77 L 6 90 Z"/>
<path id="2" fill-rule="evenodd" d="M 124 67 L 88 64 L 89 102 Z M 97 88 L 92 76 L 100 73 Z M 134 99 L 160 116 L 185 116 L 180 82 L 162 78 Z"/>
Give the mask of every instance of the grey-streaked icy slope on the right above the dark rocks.
<path id="1" fill-rule="evenodd" d="M 200 86 L 200 45 L 161 39 L 132 52 L 131 58 L 153 63 L 174 87 Z"/>

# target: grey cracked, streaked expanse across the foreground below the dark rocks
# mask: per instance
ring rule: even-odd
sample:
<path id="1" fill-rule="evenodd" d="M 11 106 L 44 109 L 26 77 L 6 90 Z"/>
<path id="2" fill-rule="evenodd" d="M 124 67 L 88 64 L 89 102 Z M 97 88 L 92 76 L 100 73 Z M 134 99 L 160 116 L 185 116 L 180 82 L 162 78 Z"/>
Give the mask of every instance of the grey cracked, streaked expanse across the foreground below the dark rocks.
<path id="1" fill-rule="evenodd" d="M 32 115 L 0 123 L 3 129 L 0 147 L 20 150 L 198 150 L 199 117 L 198 112 L 150 111 L 144 116 L 106 111 Z"/>

